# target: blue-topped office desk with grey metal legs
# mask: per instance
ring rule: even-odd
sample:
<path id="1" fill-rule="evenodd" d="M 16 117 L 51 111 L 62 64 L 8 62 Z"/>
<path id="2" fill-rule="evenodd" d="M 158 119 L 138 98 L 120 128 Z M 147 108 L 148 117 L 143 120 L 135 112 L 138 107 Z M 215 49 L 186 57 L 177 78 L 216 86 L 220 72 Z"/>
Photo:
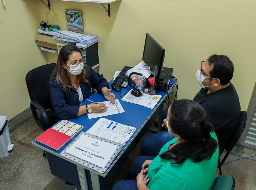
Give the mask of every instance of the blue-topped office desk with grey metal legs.
<path id="1" fill-rule="evenodd" d="M 132 87 L 128 86 L 128 91 L 131 89 Z M 127 89 L 122 89 L 121 96 L 125 95 L 126 90 Z M 32 142 L 34 146 L 37 146 L 46 151 L 47 160 L 53 175 L 56 175 L 59 178 L 62 178 L 76 186 L 80 186 L 82 190 L 106 189 L 111 179 L 119 170 L 120 166 L 126 161 L 129 154 L 132 152 L 139 140 L 149 129 L 152 123 L 154 123 L 155 118 L 162 113 L 163 101 L 166 99 L 164 92 L 157 91 L 157 94 L 162 95 L 162 98 L 153 109 L 150 109 L 122 101 L 120 92 L 113 90 L 111 90 L 111 92 L 115 94 L 116 99 L 119 99 L 125 112 L 115 115 L 108 115 L 105 116 L 105 118 L 125 125 L 133 126 L 137 130 L 125 144 L 125 146 L 122 147 L 120 153 L 116 156 L 115 160 L 104 173 L 99 173 L 95 170 L 87 168 L 82 164 L 73 162 L 72 160 L 69 160 L 60 154 L 72 142 L 72 140 L 70 140 L 59 151 L 54 151 L 47 146 L 37 143 L 36 140 Z M 93 94 L 90 97 L 90 100 L 99 102 L 106 101 L 103 95 L 98 93 Z M 82 103 L 82 105 L 89 103 L 91 102 L 85 101 Z M 99 118 L 88 119 L 87 114 L 85 114 L 78 117 L 77 119 L 70 119 L 69 121 L 84 126 L 83 131 L 87 131 L 96 121 L 98 121 L 98 119 Z M 77 136 L 78 134 L 73 139 L 75 139 Z"/>

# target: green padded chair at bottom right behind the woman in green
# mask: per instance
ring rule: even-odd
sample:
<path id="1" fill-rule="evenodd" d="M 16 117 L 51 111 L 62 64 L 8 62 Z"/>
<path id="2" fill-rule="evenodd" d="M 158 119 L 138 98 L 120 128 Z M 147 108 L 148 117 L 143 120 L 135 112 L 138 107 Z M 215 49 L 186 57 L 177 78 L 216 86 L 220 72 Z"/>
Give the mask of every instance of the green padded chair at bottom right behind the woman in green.
<path id="1" fill-rule="evenodd" d="M 221 175 L 215 178 L 211 190 L 234 190 L 235 179 L 231 176 Z"/>

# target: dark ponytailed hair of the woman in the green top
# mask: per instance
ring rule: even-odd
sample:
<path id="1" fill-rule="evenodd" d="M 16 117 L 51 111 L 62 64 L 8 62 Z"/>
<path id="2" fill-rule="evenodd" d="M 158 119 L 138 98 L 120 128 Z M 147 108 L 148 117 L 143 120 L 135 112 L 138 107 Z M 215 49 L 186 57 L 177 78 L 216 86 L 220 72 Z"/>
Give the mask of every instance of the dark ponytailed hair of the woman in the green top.
<path id="1" fill-rule="evenodd" d="M 172 164 L 183 163 L 189 157 L 193 162 L 210 159 L 218 143 L 210 135 L 213 126 L 208 122 L 204 108 L 195 101 L 181 99 L 169 109 L 167 119 L 171 130 L 186 142 L 160 154 L 161 159 L 174 159 L 176 162 Z"/>

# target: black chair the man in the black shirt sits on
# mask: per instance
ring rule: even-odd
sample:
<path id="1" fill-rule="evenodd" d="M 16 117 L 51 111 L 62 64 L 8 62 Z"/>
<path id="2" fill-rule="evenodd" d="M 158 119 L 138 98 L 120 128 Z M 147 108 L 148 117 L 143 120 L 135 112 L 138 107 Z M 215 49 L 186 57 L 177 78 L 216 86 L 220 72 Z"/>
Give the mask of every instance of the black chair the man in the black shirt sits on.
<path id="1" fill-rule="evenodd" d="M 223 165 L 223 163 L 226 161 L 227 156 L 229 155 L 229 153 L 231 152 L 231 150 L 234 148 L 235 144 L 237 143 L 238 139 L 240 138 L 241 134 L 244 131 L 245 125 L 246 125 L 246 120 L 247 120 L 247 113 L 246 111 L 241 111 L 240 112 L 240 118 L 239 118 L 239 123 L 235 129 L 234 134 L 227 140 L 224 148 L 227 151 L 227 153 L 225 154 L 224 158 L 221 160 L 219 159 L 219 175 L 222 175 L 221 172 L 221 166 Z"/>

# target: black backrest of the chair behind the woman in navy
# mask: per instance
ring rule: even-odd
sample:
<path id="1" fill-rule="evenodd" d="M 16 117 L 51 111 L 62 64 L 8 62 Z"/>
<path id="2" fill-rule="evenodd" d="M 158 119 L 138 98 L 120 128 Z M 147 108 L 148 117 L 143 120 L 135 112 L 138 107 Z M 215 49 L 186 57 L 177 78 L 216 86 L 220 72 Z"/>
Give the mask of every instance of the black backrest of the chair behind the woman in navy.
<path id="1" fill-rule="evenodd" d="M 44 109 L 51 107 L 49 79 L 56 63 L 50 63 L 30 70 L 26 75 L 26 84 L 31 102 L 37 101 Z"/>

